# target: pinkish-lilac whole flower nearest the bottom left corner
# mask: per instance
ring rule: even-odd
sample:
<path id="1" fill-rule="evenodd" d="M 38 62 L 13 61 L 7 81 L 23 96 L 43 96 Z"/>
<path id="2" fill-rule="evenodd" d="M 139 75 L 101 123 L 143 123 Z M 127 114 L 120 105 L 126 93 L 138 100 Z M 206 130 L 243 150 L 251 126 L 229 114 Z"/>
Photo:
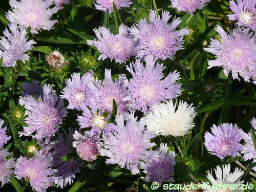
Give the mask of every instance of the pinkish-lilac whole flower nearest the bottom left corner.
<path id="1" fill-rule="evenodd" d="M 56 172 L 51 168 L 51 164 L 50 155 L 44 156 L 42 152 L 36 152 L 32 158 L 19 157 L 13 173 L 19 180 L 28 179 L 35 191 L 46 191 L 49 186 L 52 186 L 52 175 Z"/>

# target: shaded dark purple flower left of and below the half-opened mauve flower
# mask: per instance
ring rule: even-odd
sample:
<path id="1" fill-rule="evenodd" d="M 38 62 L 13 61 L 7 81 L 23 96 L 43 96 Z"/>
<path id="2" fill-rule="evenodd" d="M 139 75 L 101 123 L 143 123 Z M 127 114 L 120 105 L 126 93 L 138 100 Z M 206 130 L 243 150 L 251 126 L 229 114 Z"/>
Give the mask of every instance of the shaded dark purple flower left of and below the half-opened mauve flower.
<path id="1" fill-rule="evenodd" d="M 61 160 L 61 157 L 71 153 L 73 140 L 73 129 L 69 129 L 68 133 L 65 130 L 63 132 L 65 135 L 58 134 L 57 142 L 52 152 L 53 167 L 58 170 L 53 176 L 54 183 L 60 186 L 60 188 L 63 188 L 67 184 L 72 184 L 75 175 L 80 172 L 81 167 L 81 163 L 74 158 L 70 158 L 67 161 Z"/>

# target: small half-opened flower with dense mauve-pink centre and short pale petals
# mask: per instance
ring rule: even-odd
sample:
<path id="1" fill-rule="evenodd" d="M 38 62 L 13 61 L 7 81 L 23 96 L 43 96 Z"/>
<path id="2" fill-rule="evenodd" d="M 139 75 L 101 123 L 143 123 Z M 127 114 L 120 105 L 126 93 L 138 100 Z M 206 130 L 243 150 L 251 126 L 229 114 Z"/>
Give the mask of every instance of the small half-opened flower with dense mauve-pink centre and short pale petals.
<path id="1" fill-rule="evenodd" d="M 76 147 L 76 152 L 80 159 L 89 162 L 97 159 L 102 145 L 98 135 L 91 137 L 88 132 L 81 135 L 75 131 L 73 138 L 76 140 L 73 142 L 73 147 Z"/>

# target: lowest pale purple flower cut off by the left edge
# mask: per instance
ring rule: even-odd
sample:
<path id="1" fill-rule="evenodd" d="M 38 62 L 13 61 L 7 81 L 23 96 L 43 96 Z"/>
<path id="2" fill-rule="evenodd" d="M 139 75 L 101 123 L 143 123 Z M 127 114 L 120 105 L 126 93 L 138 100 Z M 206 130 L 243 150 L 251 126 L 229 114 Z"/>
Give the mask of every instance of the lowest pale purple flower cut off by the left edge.
<path id="1" fill-rule="evenodd" d="M 12 173 L 12 169 L 15 167 L 14 159 L 9 158 L 6 159 L 7 156 L 11 155 L 12 153 L 7 152 L 6 150 L 0 150 L 0 182 L 1 187 L 4 184 L 8 183 L 10 180 L 10 175 Z"/>

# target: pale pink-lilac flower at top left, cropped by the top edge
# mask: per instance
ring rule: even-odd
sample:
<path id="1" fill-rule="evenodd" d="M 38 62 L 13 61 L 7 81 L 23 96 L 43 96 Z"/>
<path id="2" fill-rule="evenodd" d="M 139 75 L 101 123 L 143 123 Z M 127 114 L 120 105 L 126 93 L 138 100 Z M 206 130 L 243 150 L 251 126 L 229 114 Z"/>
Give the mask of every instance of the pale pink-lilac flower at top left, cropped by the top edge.
<path id="1" fill-rule="evenodd" d="M 50 8 L 54 0 L 10 0 L 11 10 L 7 13 L 10 22 L 16 21 L 18 25 L 31 27 L 32 34 L 38 31 L 50 30 L 57 20 L 51 20 L 57 7 Z"/>

